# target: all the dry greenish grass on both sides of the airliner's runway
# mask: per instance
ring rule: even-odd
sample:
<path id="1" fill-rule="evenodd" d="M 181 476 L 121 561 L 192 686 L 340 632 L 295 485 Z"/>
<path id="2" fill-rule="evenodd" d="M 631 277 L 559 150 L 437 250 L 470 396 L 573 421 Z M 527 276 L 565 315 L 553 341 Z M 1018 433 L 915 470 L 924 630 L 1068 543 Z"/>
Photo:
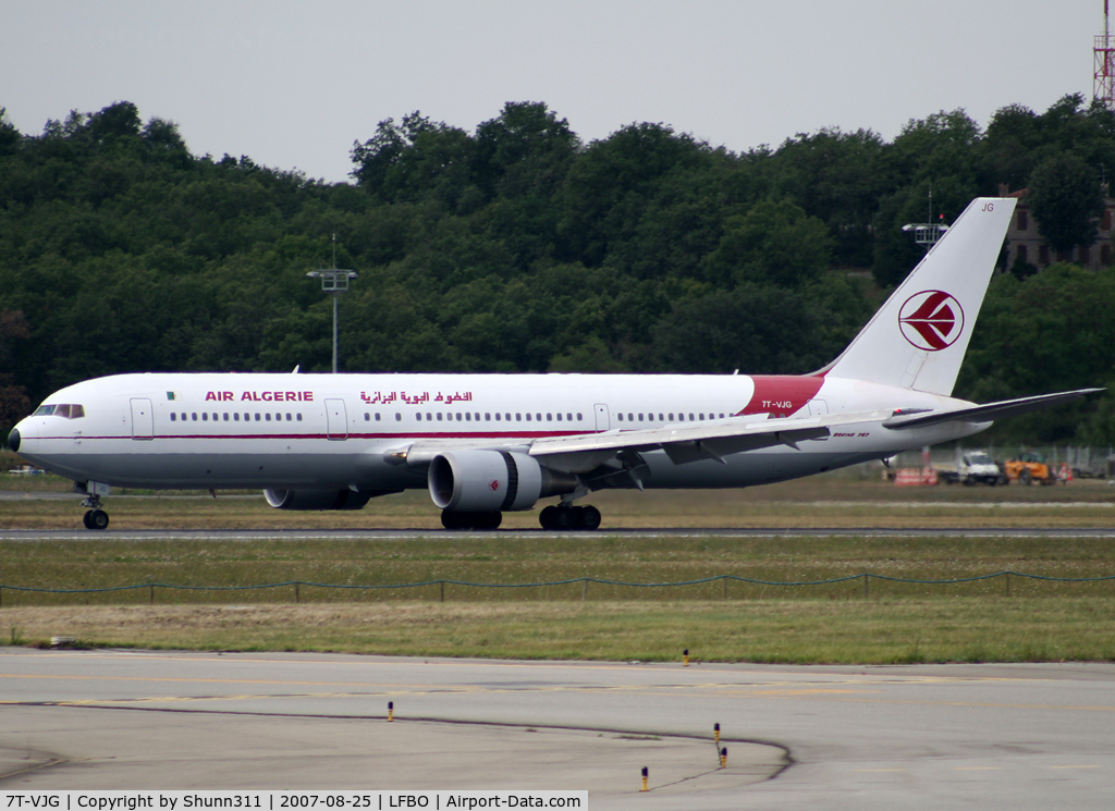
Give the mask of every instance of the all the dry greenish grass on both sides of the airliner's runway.
<path id="1" fill-rule="evenodd" d="M 2 477 L 0 477 L 2 478 Z M 52 477 L 3 482 L 0 527 L 76 528 L 81 510 Z M 13 485 L 18 485 L 13 486 Z M 33 490 L 30 488 L 35 488 Z M 28 492 L 20 498 L 20 490 Z M 272 510 L 258 495 L 123 494 L 113 528 L 437 527 L 424 492 L 358 512 Z M 37 588 L 142 583 L 248 586 L 302 580 L 384 586 L 427 580 L 541 583 L 581 577 L 673 583 L 735 575 L 768 582 L 864 571 L 950 579 L 1014 570 L 1048 577 L 1115 574 L 1103 538 L 683 537 L 686 527 L 1106 527 L 1115 489 L 898 488 L 842 476 L 752 490 L 601 492 L 604 531 L 572 538 L 163 541 L 90 535 L 77 541 L 0 541 L 0 641 L 76 636 L 97 646 L 348 651 L 523 658 L 901 663 L 1115 659 L 1115 583 L 999 577 L 930 586 L 862 579 L 822 586 L 723 582 L 636 589 L 593 583 L 534 588 L 437 584 L 408 589 L 292 586 L 250 592 L 137 589 L 45 595 Z M 536 514 L 505 526 L 534 528 Z M 677 537 L 610 535 L 678 527 Z M 444 602 L 443 602 L 444 598 Z M 298 600 L 298 602 L 295 602 Z"/>

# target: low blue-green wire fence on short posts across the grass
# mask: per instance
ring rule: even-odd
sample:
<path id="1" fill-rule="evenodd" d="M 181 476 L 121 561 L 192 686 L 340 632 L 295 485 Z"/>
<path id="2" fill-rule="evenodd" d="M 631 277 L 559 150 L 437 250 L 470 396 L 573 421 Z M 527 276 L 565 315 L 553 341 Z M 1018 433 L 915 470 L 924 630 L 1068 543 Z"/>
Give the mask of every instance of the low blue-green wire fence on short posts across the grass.
<path id="1" fill-rule="evenodd" d="M 862 583 L 863 596 L 871 596 L 871 583 L 872 580 L 878 582 L 879 585 L 883 584 L 902 584 L 902 585 L 913 585 L 913 586 L 956 586 L 961 584 L 975 584 L 975 583 L 991 583 L 995 580 L 1002 582 L 1002 593 L 1006 596 L 1011 595 L 1011 578 L 1016 579 L 1016 584 L 1021 582 L 1031 583 L 1047 583 L 1047 584 L 1098 584 L 1098 583 L 1112 583 L 1115 582 L 1115 575 L 1104 575 L 1101 577 L 1055 577 L 1050 575 L 1034 575 L 1025 571 L 995 571 L 985 575 L 972 575 L 969 577 L 952 577 L 944 579 L 924 579 L 924 578 L 911 578 L 911 577 L 892 577 L 890 575 L 878 575 L 870 571 L 864 571 L 857 575 L 845 575 L 842 577 L 830 577 L 816 580 L 764 580 L 752 577 L 740 577 L 738 575 L 716 575 L 712 577 L 702 577 L 694 580 L 678 580 L 675 583 L 630 583 L 626 580 L 610 580 L 599 577 L 574 577 L 565 580 L 547 580 L 540 583 L 472 583 L 468 580 L 450 580 L 450 579 L 439 579 L 439 580 L 423 580 L 418 583 L 396 583 L 396 584 L 372 584 L 372 585 L 356 585 L 356 584 L 338 584 L 338 583 L 316 583 L 312 580 L 284 580 L 282 583 L 264 583 L 250 586 L 188 586 L 174 583 L 136 583 L 127 586 L 100 586 L 94 588 L 40 588 L 31 586 L 11 586 L 7 584 L 0 584 L 0 608 L 4 605 L 4 596 L 7 593 L 8 605 L 12 603 L 12 597 L 17 594 L 28 594 L 28 595 L 107 595 L 114 593 L 127 593 L 127 592 L 147 592 L 148 602 L 155 603 L 156 589 L 166 589 L 171 592 L 188 592 L 188 593 L 231 593 L 231 592 L 264 592 L 268 589 L 293 589 L 293 597 L 295 603 L 302 602 L 302 589 L 313 588 L 313 589 L 339 589 L 347 592 L 360 592 L 360 593 L 376 593 L 376 592 L 401 592 L 403 589 L 426 589 L 436 587 L 438 589 L 438 598 L 442 603 L 446 600 L 446 587 L 456 587 L 465 589 L 542 589 L 553 586 L 581 586 L 581 599 L 586 600 L 589 598 L 589 587 L 619 587 L 623 589 L 671 589 L 681 587 L 694 587 L 694 586 L 709 586 L 712 584 L 721 584 L 724 586 L 724 598 L 729 597 L 728 585 L 729 584 L 745 584 L 752 586 L 763 586 L 763 587 L 779 587 L 779 588 L 797 588 L 797 587 L 821 587 L 821 586 L 837 586 L 842 584 L 852 584 L 859 586 Z M 1017 589 L 1017 585 L 1015 586 Z M 876 586 L 878 588 L 878 586 Z M 452 593 L 450 593 L 450 596 Z M 462 595 L 464 596 L 464 595 Z M 614 597 L 614 592 L 610 592 L 608 596 Z M 706 595 L 708 596 L 708 595 Z M 898 595 L 895 595 L 898 596 Z"/>

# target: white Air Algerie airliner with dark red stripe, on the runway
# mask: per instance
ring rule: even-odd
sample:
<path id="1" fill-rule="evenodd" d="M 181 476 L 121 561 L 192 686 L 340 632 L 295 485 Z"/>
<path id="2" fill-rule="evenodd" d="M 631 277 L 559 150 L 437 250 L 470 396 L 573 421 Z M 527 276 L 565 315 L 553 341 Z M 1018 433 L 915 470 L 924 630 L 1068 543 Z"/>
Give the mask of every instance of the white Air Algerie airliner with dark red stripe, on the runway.
<path id="1" fill-rule="evenodd" d="M 262 488 L 360 509 L 428 488 L 447 528 L 507 510 L 595 529 L 593 490 L 748 487 L 967 437 L 1098 389 L 950 397 L 1012 198 L 976 199 L 833 363 L 803 375 L 120 374 L 67 387 L 11 432 L 105 529 L 110 486 Z"/>

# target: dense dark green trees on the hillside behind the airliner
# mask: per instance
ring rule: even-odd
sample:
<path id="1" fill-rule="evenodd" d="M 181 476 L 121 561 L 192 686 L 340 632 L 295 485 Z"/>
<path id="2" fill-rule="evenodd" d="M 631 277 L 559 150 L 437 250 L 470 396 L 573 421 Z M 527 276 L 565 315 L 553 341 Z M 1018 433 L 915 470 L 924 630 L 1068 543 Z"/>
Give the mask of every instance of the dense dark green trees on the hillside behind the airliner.
<path id="1" fill-rule="evenodd" d="M 333 235 L 360 274 L 345 370 L 807 372 L 917 264 L 901 225 L 930 187 L 948 222 L 1031 184 L 1050 244 L 1093 238 L 1115 116 L 1069 96 L 986 130 L 942 111 L 892 141 L 823 129 L 734 154 L 662 124 L 585 144 L 524 102 L 475 133 L 388 119 L 351 157 L 352 183 L 324 184 L 192 155 L 129 102 L 40 135 L 0 109 L 0 430 L 99 374 L 328 369 L 330 303 L 306 273 Z M 992 284 L 958 393 L 1115 378 L 1112 272 L 1018 275 Z M 1019 424 L 1111 442 L 1113 413 Z"/>

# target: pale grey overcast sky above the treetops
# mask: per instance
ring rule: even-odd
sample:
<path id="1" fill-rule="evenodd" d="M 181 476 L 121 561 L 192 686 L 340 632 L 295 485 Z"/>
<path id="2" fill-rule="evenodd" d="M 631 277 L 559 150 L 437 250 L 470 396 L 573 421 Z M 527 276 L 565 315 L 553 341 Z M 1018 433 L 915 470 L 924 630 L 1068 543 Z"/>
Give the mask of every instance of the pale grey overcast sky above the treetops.
<path id="1" fill-rule="evenodd" d="M 7 0 L 0 107 L 21 131 L 127 100 L 194 154 L 340 182 L 421 110 L 469 131 L 544 101 L 585 141 L 661 121 L 746 152 L 821 127 L 893 138 L 1092 95 L 1103 0 Z"/>

